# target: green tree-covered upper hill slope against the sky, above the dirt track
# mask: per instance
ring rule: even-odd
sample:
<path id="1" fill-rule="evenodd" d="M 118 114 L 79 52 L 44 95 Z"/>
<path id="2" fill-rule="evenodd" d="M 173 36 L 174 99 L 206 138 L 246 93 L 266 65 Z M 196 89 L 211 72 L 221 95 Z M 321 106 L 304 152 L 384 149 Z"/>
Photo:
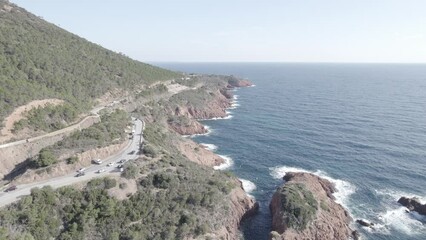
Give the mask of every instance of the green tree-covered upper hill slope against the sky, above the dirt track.
<path id="1" fill-rule="evenodd" d="M 64 99 L 81 111 L 111 89 L 180 77 L 4 4 L 13 9 L 0 14 L 0 120 L 34 99 Z"/>

